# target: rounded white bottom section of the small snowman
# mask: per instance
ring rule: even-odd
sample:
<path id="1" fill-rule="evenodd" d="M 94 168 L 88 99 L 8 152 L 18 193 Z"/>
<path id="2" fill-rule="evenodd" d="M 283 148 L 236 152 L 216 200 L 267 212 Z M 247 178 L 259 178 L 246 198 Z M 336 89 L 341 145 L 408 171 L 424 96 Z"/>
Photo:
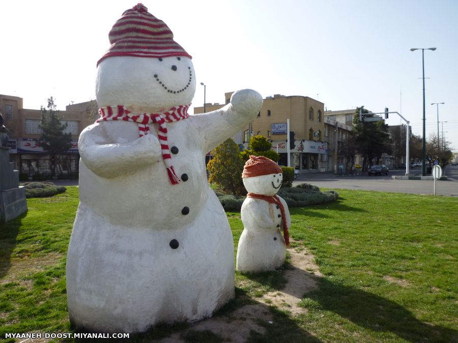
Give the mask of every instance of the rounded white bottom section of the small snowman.
<path id="1" fill-rule="evenodd" d="M 237 270 L 259 273 L 279 269 L 286 258 L 286 245 L 278 229 L 243 230 L 237 249 Z"/>

